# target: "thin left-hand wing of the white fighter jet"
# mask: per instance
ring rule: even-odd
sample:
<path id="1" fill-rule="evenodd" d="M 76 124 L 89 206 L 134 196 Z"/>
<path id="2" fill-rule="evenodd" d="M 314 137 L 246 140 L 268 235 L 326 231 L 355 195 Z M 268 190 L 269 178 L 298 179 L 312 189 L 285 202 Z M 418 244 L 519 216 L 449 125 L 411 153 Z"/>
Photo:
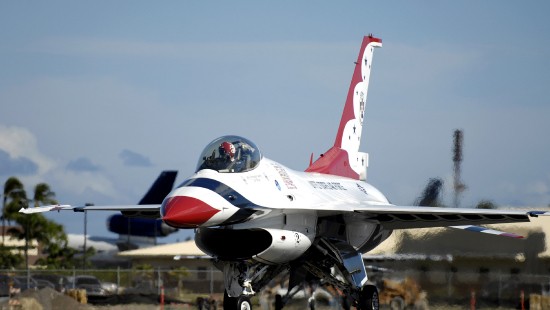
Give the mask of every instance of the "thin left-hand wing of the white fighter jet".
<path id="1" fill-rule="evenodd" d="M 120 211 L 126 216 L 159 218 L 160 204 L 152 205 L 112 205 L 112 206 L 71 206 L 71 205 L 50 205 L 37 208 L 21 208 L 20 213 L 33 214 L 48 211 Z"/>

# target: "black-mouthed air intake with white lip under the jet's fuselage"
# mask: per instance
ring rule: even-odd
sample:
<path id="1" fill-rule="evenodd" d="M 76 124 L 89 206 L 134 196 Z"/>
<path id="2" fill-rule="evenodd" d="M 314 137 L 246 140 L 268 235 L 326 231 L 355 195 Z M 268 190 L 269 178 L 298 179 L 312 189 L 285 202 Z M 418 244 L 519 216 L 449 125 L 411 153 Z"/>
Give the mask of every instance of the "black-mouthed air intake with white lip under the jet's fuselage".
<path id="1" fill-rule="evenodd" d="M 298 258 L 309 249 L 313 238 L 308 232 L 272 228 L 200 228 L 195 234 L 197 246 L 213 257 L 229 261 L 254 259 L 266 264 Z"/>

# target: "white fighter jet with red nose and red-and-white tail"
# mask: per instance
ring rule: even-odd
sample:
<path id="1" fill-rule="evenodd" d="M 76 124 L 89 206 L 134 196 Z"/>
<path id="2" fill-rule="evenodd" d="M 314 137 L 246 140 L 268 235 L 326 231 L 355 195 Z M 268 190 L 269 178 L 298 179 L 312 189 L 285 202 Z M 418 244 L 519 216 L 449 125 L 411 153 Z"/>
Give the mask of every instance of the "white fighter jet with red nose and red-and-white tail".
<path id="1" fill-rule="evenodd" d="M 243 137 L 223 136 L 206 146 L 196 173 L 162 205 L 64 205 L 21 212 L 118 210 L 196 229 L 197 246 L 224 272 L 224 309 L 250 309 L 249 296 L 283 271 L 290 273 L 291 287 L 305 277 L 322 279 L 358 309 L 377 309 L 378 293 L 367 284 L 361 254 L 394 229 L 448 226 L 504 234 L 471 225 L 526 222 L 537 215 L 395 206 L 365 182 L 368 155 L 359 152 L 359 144 L 373 51 L 381 46 L 375 37 L 363 39 L 334 145 L 305 172 L 265 158 Z"/>

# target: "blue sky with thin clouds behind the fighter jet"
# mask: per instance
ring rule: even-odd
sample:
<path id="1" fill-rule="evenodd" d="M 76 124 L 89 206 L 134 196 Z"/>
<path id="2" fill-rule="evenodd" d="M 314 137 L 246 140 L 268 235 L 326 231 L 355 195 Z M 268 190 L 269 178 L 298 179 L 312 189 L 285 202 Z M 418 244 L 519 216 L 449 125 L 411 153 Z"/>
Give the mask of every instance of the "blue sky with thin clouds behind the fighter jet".
<path id="1" fill-rule="evenodd" d="M 547 1 L 2 1 L 0 178 L 63 203 L 136 203 L 245 136 L 303 170 L 336 133 L 361 39 L 374 55 L 369 182 L 409 205 L 446 182 L 464 130 L 462 206 L 550 204 Z M 80 214 L 50 214 L 71 233 Z M 107 214 L 89 216 L 109 236 Z M 178 233 L 171 239 L 182 239 Z"/>

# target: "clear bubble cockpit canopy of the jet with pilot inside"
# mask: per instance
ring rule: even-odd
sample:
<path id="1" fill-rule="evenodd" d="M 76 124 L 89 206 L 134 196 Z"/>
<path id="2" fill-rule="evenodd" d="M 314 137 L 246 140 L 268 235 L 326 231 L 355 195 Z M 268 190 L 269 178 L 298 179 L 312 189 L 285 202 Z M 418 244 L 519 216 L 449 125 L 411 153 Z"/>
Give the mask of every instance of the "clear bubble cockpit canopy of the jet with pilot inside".
<path id="1" fill-rule="evenodd" d="M 196 171 L 246 172 L 256 168 L 261 159 L 262 154 L 252 141 L 239 136 L 223 136 L 204 148 Z"/>

